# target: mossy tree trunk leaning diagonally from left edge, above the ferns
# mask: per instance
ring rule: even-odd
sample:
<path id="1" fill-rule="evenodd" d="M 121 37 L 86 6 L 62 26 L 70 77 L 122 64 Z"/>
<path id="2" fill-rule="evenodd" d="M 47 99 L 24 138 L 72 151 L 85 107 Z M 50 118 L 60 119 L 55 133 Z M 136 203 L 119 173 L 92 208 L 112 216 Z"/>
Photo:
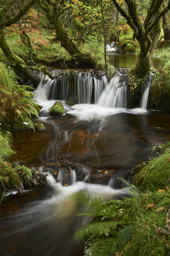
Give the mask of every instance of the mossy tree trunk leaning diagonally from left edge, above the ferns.
<path id="1" fill-rule="evenodd" d="M 36 89 L 37 85 L 41 81 L 40 76 L 37 76 L 32 70 L 30 70 L 23 59 L 13 52 L 11 45 L 4 37 L 3 29 L 0 29 L 0 47 L 7 60 L 14 64 L 14 68 L 17 72 L 24 78 L 29 79 L 33 83 L 33 87 Z"/>

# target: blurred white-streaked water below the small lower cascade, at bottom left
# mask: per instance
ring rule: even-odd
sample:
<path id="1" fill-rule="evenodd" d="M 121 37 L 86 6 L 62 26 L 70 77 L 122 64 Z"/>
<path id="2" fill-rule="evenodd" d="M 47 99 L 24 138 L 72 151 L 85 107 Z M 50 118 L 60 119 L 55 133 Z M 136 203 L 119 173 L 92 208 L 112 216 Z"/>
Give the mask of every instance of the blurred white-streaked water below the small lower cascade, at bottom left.
<path id="1" fill-rule="evenodd" d="M 38 192 L 38 197 L 37 197 Z M 79 195 L 81 193 L 81 195 Z M 76 241 L 77 230 L 93 218 L 76 216 L 85 212 L 84 198 L 107 201 L 131 195 L 127 189 L 77 182 L 42 186 L 13 196 L 15 204 L 3 214 L 1 205 L 1 256 L 82 256 L 83 241 Z M 23 205 L 24 200 L 27 201 Z"/>

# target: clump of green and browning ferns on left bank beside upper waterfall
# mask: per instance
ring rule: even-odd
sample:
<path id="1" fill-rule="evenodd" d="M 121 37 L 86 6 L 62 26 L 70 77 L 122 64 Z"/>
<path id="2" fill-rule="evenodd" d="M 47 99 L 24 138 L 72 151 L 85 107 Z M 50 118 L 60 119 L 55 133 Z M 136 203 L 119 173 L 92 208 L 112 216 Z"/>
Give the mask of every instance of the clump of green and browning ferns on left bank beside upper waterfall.
<path id="1" fill-rule="evenodd" d="M 6 70 L 5 70 L 6 71 Z M 19 85 L 13 70 L 0 72 L 0 122 L 6 127 L 14 122 L 15 118 L 28 122 L 34 129 L 31 116 L 38 117 L 35 108 L 37 101 L 33 99 L 32 87 Z"/>

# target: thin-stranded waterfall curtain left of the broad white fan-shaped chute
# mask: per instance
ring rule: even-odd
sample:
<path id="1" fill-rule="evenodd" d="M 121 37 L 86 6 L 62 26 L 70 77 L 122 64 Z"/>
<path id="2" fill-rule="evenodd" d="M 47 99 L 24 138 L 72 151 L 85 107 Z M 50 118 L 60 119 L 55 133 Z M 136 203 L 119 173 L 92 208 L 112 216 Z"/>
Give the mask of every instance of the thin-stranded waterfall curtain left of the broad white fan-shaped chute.
<path id="1" fill-rule="evenodd" d="M 44 78 L 43 73 L 39 73 L 39 76 Z M 37 101 L 45 99 L 66 101 L 69 96 L 71 76 L 72 80 L 74 80 L 75 93 L 77 91 L 78 104 L 91 104 L 92 97 L 94 97 L 94 103 L 99 100 L 102 91 L 106 87 L 107 78 L 102 73 L 94 73 L 92 70 L 71 73 L 66 71 L 64 75 L 58 76 L 57 79 L 51 80 L 49 77 L 48 81 L 42 79 L 35 91 L 34 98 Z"/>

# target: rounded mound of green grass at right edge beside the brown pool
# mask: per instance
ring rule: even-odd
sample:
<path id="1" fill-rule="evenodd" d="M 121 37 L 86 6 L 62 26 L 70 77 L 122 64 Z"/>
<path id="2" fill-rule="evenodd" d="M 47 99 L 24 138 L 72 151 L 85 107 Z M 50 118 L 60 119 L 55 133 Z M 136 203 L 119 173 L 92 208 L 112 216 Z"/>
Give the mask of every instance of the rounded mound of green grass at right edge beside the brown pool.
<path id="1" fill-rule="evenodd" d="M 151 160 L 133 178 L 133 184 L 142 191 L 155 191 L 170 186 L 170 150 Z"/>

